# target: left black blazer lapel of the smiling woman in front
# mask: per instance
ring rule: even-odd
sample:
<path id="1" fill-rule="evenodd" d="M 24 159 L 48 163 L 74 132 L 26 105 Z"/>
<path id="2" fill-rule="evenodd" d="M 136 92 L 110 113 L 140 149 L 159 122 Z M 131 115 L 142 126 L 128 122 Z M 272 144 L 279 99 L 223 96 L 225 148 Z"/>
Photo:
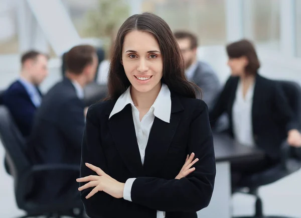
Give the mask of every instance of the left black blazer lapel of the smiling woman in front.
<path id="1" fill-rule="evenodd" d="M 112 116 L 108 122 L 115 146 L 133 176 L 143 175 L 143 167 L 137 143 L 131 106 Z"/>

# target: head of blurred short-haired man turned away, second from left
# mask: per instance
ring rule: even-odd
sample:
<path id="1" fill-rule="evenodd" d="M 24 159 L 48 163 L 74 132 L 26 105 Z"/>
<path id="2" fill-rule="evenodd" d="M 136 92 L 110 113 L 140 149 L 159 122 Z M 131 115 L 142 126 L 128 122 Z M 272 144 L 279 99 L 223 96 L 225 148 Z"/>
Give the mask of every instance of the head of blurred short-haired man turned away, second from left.
<path id="1" fill-rule="evenodd" d="M 82 87 L 92 82 L 98 66 L 96 49 L 91 45 L 78 45 L 65 55 L 66 77 L 76 80 Z"/>

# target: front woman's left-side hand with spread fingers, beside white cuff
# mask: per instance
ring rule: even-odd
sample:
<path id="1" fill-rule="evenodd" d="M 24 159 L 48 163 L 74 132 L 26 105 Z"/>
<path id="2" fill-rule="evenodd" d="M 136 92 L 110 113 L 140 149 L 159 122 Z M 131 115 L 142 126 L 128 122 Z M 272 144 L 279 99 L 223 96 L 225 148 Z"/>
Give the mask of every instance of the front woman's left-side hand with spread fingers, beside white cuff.
<path id="1" fill-rule="evenodd" d="M 86 198 L 92 197 L 98 191 L 104 191 L 105 193 L 111 195 L 115 198 L 123 197 L 124 183 L 118 182 L 116 179 L 113 179 L 108 174 L 103 172 L 99 167 L 93 166 L 92 164 L 86 163 L 86 166 L 97 173 L 98 176 L 90 175 L 82 178 L 76 179 L 77 182 L 88 182 L 85 185 L 78 188 L 79 191 L 82 191 L 87 188 L 95 187 L 92 191 L 86 196 Z"/>

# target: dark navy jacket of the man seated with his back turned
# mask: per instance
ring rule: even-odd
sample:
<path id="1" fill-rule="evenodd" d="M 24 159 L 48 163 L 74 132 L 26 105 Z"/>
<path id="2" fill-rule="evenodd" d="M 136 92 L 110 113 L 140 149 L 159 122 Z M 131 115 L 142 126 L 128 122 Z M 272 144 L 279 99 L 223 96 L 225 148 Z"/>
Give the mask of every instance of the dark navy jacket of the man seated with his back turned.
<path id="1" fill-rule="evenodd" d="M 77 97 L 71 81 L 65 78 L 49 90 L 37 111 L 28 141 L 28 154 L 32 161 L 35 164 L 66 163 L 79 166 L 84 126 L 84 103 Z M 71 176 L 66 172 L 54 172 L 53 177 L 50 174 L 43 174 L 42 177 L 45 179 L 44 185 L 48 186 L 41 191 L 41 198 L 53 200 L 64 191 L 64 186 L 68 188 Z M 72 179 L 76 183 L 76 178 Z"/>

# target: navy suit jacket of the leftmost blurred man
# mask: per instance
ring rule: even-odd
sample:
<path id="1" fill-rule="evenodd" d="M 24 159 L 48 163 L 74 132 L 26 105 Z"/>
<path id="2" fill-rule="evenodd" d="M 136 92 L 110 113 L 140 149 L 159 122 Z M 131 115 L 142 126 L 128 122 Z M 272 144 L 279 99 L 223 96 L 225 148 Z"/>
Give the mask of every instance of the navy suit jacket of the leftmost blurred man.
<path id="1" fill-rule="evenodd" d="M 39 89 L 38 92 L 41 94 Z M 11 84 L 5 91 L 3 94 L 3 103 L 9 108 L 22 135 L 28 137 L 32 130 L 37 107 L 19 80 Z"/>

